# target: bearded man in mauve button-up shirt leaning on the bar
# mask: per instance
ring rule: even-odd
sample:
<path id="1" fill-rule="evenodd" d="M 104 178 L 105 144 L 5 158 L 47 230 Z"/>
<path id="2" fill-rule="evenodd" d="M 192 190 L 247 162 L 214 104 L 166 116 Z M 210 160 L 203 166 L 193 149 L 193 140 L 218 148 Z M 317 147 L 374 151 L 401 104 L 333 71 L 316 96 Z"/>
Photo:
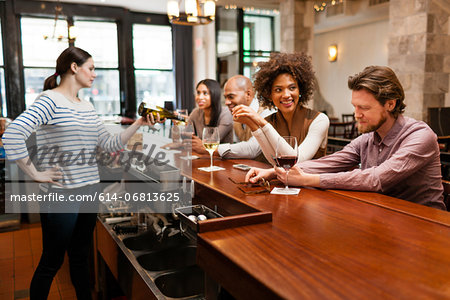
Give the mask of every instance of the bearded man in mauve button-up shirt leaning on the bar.
<path id="1" fill-rule="evenodd" d="M 297 164 L 288 184 L 380 192 L 445 210 L 436 134 L 424 122 L 402 116 L 405 95 L 395 73 L 367 67 L 349 77 L 348 87 L 364 134 L 341 151 Z M 246 181 L 274 177 L 284 182 L 286 172 L 253 168 Z"/>

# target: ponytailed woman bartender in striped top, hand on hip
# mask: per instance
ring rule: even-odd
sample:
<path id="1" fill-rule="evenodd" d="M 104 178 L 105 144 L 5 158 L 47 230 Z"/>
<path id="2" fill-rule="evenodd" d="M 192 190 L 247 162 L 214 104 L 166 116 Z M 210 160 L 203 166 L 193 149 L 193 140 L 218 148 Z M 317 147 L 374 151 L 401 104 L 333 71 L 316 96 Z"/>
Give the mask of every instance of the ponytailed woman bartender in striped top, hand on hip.
<path id="1" fill-rule="evenodd" d="M 48 297 L 66 251 L 77 298 L 91 299 L 88 255 L 96 211 L 94 207 L 90 213 L 80 213 L 83 204 L 70 202 L 70 197 L 92 196 L 98 191 L 98 167 L 92 163 L 97 146 L 118 151 L 141 125 L 154 123 L 148 117 L 140 118 L 120 134 L 108 133 L 92 104 L 77 96 L 80 89 L 92 86 L 96 76 L 89 53 L 67 48 L 56 61 L 56 72 L 45 80 L 44 91 L 3 135 L 8 159 L 16 161 L 27 175 L 41 183 L 41 194 L 57 194 L 66 201 L 44 203 L 41 207 L 43 249 L 31 281 L 31 299 Z M 38 149 L 56 149 L 53 158 L 40 157 L 39 168 L 29 162 L 25 144 L 33 131 Z M 54 161 L 55 157 L 63 157 L 64 163 Z"/>

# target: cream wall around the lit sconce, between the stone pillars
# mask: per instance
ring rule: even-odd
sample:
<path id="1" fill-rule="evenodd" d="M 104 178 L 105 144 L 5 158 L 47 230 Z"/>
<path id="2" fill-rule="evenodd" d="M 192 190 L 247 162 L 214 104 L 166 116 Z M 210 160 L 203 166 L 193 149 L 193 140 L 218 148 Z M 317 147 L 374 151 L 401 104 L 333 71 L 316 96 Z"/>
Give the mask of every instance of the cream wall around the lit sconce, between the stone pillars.
<path id="1" fill-rule="evenodd" d="M 313 64 L 323 97 L 334 107 L 334 116 L 353 113 L 349 75 L 370 65 L 387 65 L 389 20 L 341 28 L 314 35 Z M 338 58 L 328 61 L 328 46 L 336 44 Z"/>

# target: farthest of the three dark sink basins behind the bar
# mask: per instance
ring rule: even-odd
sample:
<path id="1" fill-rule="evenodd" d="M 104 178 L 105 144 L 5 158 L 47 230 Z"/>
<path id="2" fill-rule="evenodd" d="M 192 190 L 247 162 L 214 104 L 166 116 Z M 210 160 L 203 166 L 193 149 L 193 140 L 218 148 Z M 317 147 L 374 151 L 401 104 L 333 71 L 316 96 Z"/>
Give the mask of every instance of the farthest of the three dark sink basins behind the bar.
<path id="1" fill-rule="evenodd" d="M 189 243 L 189 239 L 176 234 L 170 237 L 164 237 L 161 241 L 158 236 L 152 232 L 147 231 L 137 236 L 131 236 L 123 239 L 123 244 L 130 250 L 160 250 L 168 247 L 186 245 Z"/>

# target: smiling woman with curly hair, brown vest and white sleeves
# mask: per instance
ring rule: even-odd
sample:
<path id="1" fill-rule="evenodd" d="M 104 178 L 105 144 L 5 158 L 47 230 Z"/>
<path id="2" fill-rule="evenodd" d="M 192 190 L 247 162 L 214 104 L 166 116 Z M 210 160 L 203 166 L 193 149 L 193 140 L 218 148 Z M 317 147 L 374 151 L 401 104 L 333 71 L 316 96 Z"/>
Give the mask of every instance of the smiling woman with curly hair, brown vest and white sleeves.
<path id="1" fill-rule="evenodd" d="M 276 107 L 277 112 L 264 119 L 240 105 L 233 109 L 234 120 L 250 127 L 272 165 L 280 136 L 297 138 L 298 161 L 324 156 L 330 121 L 325 114 L 304 106 L 314 91 L 311 59 L 303 53 L 274 53 L 258 66 L 254 82 L 257 98 L 262 106 Z M 283 152 L 290 151 L 294 150 L 285 143 Z"/>

